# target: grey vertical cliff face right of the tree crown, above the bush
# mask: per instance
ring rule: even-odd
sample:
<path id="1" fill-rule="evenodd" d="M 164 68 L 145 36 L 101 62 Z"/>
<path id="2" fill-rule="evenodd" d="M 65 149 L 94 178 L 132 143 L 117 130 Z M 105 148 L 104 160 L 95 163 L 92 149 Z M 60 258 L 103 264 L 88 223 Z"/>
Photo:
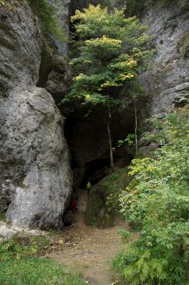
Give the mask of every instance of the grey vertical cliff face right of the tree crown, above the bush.
<path id="1" fill-rule="evenodd" d="M 148 113 L 161 113 L 189 98 L 189 4 L 188 0 L 153 1 L 143 19 L 153 36 L 156 56 L 142 82 L 149 95 Z"/>

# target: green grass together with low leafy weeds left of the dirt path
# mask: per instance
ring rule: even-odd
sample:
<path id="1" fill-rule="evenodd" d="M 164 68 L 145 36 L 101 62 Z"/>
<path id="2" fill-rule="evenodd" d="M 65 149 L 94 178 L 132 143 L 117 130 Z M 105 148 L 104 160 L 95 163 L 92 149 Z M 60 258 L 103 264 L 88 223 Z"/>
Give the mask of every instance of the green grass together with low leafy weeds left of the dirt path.
<path id="1" fill-rule="evenodd" d="M 37 257 L 49 245 L 45 237 L 15 236 L 1 243 L 0 285 L 84 285 L 80 273 Z"/>

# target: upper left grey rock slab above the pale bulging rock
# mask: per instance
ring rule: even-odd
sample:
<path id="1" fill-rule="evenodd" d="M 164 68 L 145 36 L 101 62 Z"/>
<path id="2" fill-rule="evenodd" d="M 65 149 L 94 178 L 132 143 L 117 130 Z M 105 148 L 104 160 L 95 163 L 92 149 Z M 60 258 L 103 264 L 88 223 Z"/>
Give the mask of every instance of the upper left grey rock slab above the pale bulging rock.
<path id="1" fill-rule="evenodd" d="M 38 19 L 26 1 L 0 2 L 0 97 L 38 80 L 41 36 Z"/>

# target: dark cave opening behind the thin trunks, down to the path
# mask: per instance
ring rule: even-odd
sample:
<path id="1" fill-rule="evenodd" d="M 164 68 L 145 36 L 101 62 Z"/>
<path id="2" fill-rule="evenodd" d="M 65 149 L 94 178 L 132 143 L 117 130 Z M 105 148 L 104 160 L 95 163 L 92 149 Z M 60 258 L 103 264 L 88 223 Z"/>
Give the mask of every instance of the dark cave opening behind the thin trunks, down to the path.
<path id="1" fill-rule="evenodd" d="M 73 172 L 73 192 L 68 207 L 63 214 L 65 227 L 70 227 L 82 219 L 86 219 L 87 207 L 89 207 L 92 188 L 104 177 L 112 173 L 109 161 L 109 144 L 107 138 L 106 118 L 103 113 L 94 112 L 85 117 L 82 112 L 68 113 L 65 120 L 64 135 L 68 142 L 71 155 L 71 167 Z M 125 115 L 116 113 L 112 118 L 112 142 L 114 146 L 114 165 L 119 169 L 130 164 L 134 152 L 129 152 L 127 147 L 117 147 L 118 140 L 124 140 L 128 133 L 134 133 L 134 116 L 129 114 L 129 120 Z M 86 127 L 87 125 L 87 127 Z M 105 138 L 105 141 L 103 140 Z M 90 143 L 88 143 L 90 142 Z M 102 152 L 99 152 L 99 147 Z M 92 151 L 91 151 L 92 149 Z M 87 155 L 86 155 L 87 153 Z M 83 158 L 83 160 L 82 160 Z M 115 172 L 117 173 L 117 169 Z M 90 186 L 89 185 L 89 186 Z M 103 198 L 103 193 L 99 199 Z M 72 201 L 76 199 L 77 211 L 72 209 Z"/>

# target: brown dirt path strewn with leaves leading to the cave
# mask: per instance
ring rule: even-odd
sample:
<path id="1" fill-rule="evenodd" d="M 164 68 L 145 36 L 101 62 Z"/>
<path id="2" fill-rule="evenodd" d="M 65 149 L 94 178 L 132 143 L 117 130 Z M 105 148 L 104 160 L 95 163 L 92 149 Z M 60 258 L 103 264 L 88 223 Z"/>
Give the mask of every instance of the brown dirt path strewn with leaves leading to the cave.
<path id="1" fill-rule="evenodd" d="M 45 257 L 84 272 L 87 284 L 114 284 L 109 271 L 109 259 L 123 247 L 117 234 L 119 228 L 128 229 L 128 225 L 119 222 L 109 229 L 97 229 L 83 223 L 76 224 L 56 235 L 54 244 L 47 249 Z"/>

